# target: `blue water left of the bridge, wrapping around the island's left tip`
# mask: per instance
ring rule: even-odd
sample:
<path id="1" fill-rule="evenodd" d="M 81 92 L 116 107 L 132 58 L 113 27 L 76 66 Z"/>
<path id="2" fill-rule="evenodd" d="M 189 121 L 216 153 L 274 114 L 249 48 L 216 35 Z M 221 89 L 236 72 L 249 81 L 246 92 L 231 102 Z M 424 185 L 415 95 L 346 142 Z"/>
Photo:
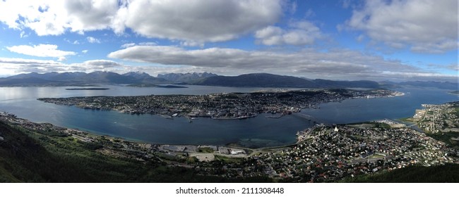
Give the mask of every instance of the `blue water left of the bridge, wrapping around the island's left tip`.
<path id="1" fill-rule="evenodd" d="M 115 111 L 85 110 L 36 100 L 43 97 L 212 94 L 266 90 L 266 88 L 203 86 L 189 86 L 186 89 L 103 87 L 109 89 L 69 91 L 65 90 L 69 87 L 1 87 L 0 111 L 13 113 L 32 122 L 49 122 L 61 127 L 156 144 L 236 143 L 249 147 L 280 146 L 294 143 L 297 131 L 311 127 L 311 122 L 297 116 L 267 119 L 265 115 L 258 115 L 245 120 L 199 118 L 190 123 L 185 117 L 169 120 L 159 115 L 130 115 Z"/>

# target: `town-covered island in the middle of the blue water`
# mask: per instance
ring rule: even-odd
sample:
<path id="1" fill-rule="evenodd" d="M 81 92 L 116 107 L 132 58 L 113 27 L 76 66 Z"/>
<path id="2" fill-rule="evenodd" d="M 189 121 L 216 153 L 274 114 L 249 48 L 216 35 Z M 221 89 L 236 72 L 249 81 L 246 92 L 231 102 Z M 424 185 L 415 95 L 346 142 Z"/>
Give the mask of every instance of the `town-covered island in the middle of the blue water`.
<path id="1" fill-rule="evenodd" d="M 212 117 L 220 120 L 244 119 L 260 113 L 281 117 L 302 108 L 317 108 L 320 103 L 339 102 L 347 98 L 401 96 L 387 89 L 318 89 L 294 91 L 258 91 L 207 95 L 90 96 L 70 98 L 38 98 L 57 105 L 91 110 L 116 110 L 131 114 L 156 114 L 166 118 L 177 116 Z"/>

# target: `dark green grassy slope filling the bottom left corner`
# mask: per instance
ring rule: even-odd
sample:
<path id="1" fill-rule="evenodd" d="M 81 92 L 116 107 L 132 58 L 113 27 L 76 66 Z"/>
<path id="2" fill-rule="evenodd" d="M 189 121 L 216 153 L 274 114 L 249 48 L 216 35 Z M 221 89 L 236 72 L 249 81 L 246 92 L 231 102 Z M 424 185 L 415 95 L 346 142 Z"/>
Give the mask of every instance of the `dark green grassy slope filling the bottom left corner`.
<path id="1" fill-rule="evenodd" d="M 271 182 L 198 176 L 157 160 L 140 162 L 94 151 L 97 146 L 55 132 L 12 127 L 0 121 L 0 182 Z"/>

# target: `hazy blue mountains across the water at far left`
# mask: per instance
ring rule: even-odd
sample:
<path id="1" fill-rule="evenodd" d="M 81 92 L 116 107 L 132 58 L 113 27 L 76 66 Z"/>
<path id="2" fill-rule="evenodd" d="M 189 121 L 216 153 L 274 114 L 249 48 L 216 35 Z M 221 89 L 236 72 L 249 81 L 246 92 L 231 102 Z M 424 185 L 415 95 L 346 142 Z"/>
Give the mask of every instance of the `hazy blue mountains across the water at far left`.
<path id="1" fill-rule="evenodd" d="M 94 84 L 164 84 L 167 80 L 143 72 L 31 72 L 0 78 L 0 86 L 86 86 Z"/>

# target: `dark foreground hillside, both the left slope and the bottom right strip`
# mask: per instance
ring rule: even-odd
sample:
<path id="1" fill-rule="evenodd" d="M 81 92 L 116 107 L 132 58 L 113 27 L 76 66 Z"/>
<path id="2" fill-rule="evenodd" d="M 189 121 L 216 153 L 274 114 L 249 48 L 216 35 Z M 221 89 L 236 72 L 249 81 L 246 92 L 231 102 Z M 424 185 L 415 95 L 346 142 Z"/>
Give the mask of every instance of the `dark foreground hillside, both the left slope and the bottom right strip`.
<path id="1" fill-rule="evenodd" d="M 97 136 L 107 141 L 102 145 L 75 139 L 56 129 L 24 129 L 2 121 L 0 136 L 0 182 L 273 182 L 268 177 L 198 176 L 193 168 L 171 167 L 160 158 L 120 156 L 126 153 L 123 148 L 102 154 L 102 147 L 110 141 L 104 136 Z M 457 183 L 459 164 L 410 166 L 342 182 Z"/>

